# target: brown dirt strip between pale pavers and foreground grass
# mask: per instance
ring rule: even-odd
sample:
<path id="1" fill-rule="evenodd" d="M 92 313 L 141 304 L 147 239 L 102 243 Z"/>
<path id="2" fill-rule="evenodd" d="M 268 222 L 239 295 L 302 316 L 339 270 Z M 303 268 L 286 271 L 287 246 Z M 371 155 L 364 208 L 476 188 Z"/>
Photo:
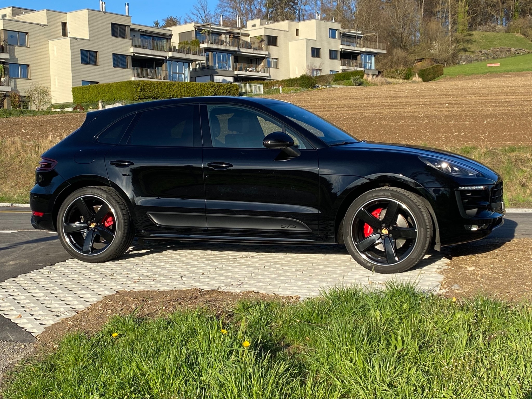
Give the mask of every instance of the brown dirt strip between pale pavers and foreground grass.
<path id="1" fill-rule="evenodd" d="M 209 307 L 217 315 L 230 313 L 232 307 L 242 300 L 297 302 L 298 296 L 281 296 L 252 291 L 230 293 L 217 290 L 178 289 L 169 291 L 121 291 L 103 298 L 76 315 L 63 319 L 46 328 L 37 336 L 38 343 L 50 346 L 65 334 L 84 332 L 93 334 L 115 315 L 127 315 L 137 309 L 136 315 L 154 318 L 183 309 Z"/>

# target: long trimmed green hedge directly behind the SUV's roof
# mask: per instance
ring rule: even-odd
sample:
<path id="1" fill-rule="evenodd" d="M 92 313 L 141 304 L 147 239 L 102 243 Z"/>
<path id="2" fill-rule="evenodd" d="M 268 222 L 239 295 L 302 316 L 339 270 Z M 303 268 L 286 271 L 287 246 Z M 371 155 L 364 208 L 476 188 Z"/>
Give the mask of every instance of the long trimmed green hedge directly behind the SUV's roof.
<path id="1" fill-rule="evenodd" d="M 237 95 L 237 85 L 222 83 L 126 80 L 123 82 L 72 87 L 74 103 L 92 103 L 98 100 L 138 101 L 142 99 Z"/>

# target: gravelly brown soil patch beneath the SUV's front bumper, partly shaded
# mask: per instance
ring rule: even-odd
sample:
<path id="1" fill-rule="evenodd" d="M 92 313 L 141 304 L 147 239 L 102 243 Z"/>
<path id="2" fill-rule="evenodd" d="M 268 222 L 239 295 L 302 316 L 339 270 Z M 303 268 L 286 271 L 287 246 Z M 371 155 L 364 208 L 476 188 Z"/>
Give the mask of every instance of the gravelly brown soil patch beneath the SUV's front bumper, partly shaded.
<path id="1" fill-rule="evenodd" d="M 476 294 L 509 301 L 532 300 L 532 238 L 498 239 L 457 245 L 443 271 L 445 296 Z"/>

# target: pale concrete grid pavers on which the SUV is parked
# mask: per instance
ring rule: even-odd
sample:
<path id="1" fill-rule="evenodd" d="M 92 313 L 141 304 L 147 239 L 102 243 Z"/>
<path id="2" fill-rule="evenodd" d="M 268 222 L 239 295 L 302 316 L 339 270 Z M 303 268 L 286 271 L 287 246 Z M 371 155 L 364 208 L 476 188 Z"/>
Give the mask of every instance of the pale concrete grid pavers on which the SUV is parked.
<path id="1" fill-rule="evenodd" d="M 0 314 L 37 335 L 119 290 L 197 287 L 308 297 L 335 286 L 411 281 L 438 292 L 439 271 L 448 263 L 443 256 L 434 252 L 407 272 L 379 275 L 336 245 L 151 244 L 111 262 L 71 259 L 7 279 L 0 283 Z"/>

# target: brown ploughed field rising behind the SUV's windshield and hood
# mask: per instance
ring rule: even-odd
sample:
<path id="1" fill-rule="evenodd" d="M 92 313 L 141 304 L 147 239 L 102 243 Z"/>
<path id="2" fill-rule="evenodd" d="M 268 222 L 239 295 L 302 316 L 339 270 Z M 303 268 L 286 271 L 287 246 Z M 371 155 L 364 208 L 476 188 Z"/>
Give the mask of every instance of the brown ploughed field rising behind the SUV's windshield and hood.
<path id="1" fill-rule="evenodd" d="M 268 96 L 359 139 L 443 146 L 532 145 L 532 72 Z"/>

